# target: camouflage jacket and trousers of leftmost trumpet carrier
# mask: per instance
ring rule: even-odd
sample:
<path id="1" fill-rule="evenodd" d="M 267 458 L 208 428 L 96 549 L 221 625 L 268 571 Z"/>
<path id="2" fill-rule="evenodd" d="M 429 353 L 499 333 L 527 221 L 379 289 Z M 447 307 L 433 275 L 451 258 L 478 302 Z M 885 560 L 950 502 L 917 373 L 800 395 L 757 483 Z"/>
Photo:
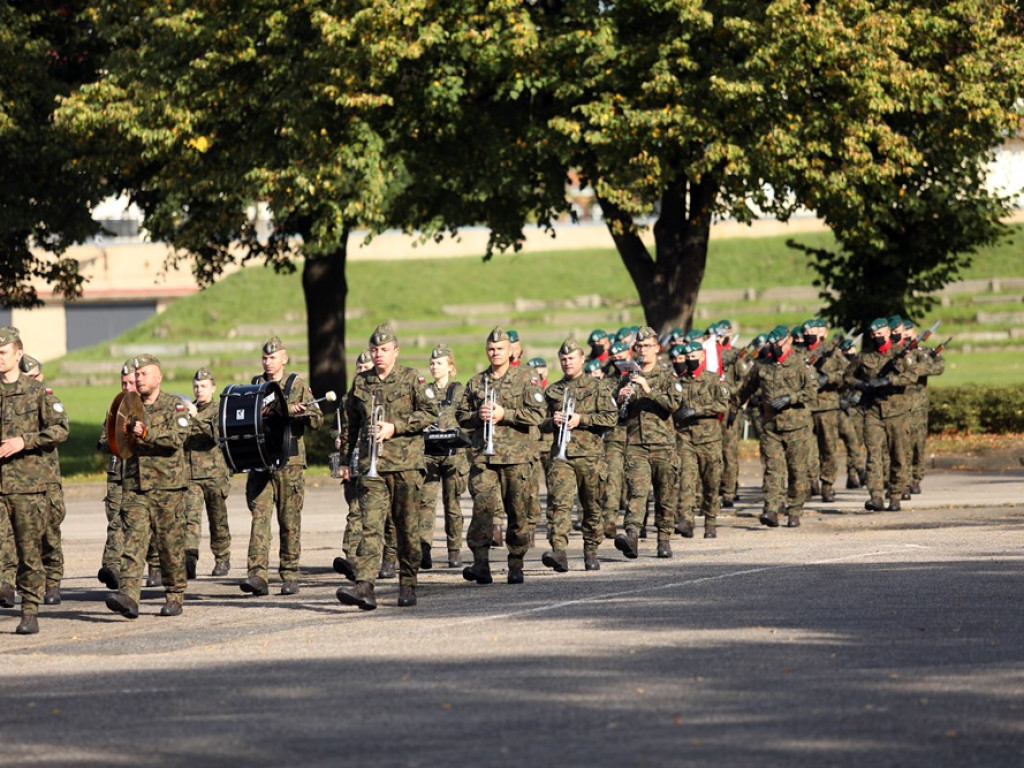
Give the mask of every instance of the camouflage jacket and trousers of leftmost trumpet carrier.
<path id="1" fill-rule="evenodd" d="M 378 476 L 367 477 L 371 453 L 368 427 L 375 404 L 383 409 L 381 421 L 394 424 L 395 432 L 378 445 Z M 362 530 L 355 551 L 356 581 L 376 582 L 385 520 L 390 515 L 397 534 L 398 583 L 415 587 L 422 557 L 423 430 L 437 421 L 437 393 L 415 370 L 395 365 L 385 379 L 373 370 L 356 376 L 345 408 L 349 461 L 356 443 L 359 445 L 357 493 Z"/>

